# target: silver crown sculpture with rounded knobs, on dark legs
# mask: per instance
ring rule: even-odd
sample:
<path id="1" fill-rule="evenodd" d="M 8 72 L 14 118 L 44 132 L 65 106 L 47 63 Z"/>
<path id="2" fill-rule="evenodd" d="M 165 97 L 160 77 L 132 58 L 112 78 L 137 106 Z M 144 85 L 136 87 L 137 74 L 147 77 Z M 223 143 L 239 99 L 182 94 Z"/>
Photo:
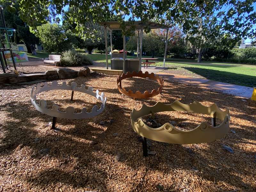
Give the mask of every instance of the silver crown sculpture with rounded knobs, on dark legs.
<path id="1" fill-rule="evenodd" d="M 83 108 L 80 113 L 75 113 L 75 108 L 69 106 L 66 108 L 65 112 L 59 110 L 59 106 L 54 104 L 52 105 L 52 109 L 47 108 L 45 100 L 39 100 L 39 103 L 36 103 L 36 95 L 40 92 L 50 91 L 50 90 L 70 90 L 72 91 L 71 100 L 73 100 L 74 91 L 86 93 L 88 95 L 92 95 L 93 97 L 100 100 L 101 105 L 98 108 L 97 105 L 93 106 L 92 112 L 88 113 L 86 108 Z M 66 82 L 62 84 L 58 84 L 57 81 L 52 81 L 50 86 L 47 85 L 47 82 L 44 82 L 44 86 L 41 87 L 41 84 L 38 83 L 36 87 L 32 87 L 31 90 L 31 104 L 36 108 L 37 111 L 44 113 L 46 115 L 53 117 L 52 128 L 55 128 L 56 118 L 64 118 L 64 119 L 85 119 L 91 118 L 99 115 L 105 108 L 107 101 L 107 97 L 104 98 L 104 92 L 99 94 L 99 90 L 93 92 L 93 88 L 89 87 L 88 90 L 85 89 L 85 85 L 81 85 L 81 87 L 77 87 L 76 82 L 72 82 L 71 85 L 67 85 Z"/>

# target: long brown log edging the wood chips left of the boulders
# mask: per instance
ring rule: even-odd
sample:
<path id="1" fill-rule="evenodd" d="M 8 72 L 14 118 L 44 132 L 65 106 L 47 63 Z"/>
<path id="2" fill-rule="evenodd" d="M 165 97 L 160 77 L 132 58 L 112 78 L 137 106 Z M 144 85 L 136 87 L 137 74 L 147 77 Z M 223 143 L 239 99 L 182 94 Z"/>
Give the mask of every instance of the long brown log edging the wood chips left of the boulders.
<path id="1" fill-rule="evenodd" d="M 42 82 L 59 79 L 56 70 L 46 71 L 45 73 L 33 73 L 16 75 L 13 73 L 0 74 L 0 84 L 19 84 L 24 82 Z"/>

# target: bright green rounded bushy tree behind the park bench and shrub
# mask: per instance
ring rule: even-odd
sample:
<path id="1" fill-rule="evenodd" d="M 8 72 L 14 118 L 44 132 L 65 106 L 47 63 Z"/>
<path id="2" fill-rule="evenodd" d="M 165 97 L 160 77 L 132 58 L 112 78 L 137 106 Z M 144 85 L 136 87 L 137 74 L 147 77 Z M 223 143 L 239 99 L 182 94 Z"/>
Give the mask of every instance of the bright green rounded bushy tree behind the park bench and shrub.
<path id="1" fill-rule="evenodd" d="M 36 36 L 40 38 L 44 49 L 49 53 L 61 53 L 74 48 L 77 44 L 76 36 L 71 30 L 65 32 L 63 28 L 56 23 L 47 23 L 38 26 Z"/>

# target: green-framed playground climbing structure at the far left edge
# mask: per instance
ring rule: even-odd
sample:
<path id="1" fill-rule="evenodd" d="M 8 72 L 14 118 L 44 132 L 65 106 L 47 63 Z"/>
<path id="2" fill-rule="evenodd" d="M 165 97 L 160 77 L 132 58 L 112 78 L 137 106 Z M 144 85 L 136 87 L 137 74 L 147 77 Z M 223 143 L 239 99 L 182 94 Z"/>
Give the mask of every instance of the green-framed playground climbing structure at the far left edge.
<path id="1" fill-rule="evenodd" d="M 6 28 L 4 14 L 0 5 L 0 13 L 3 21 L 4 28 L 0 28 L 0 63 L 4 73 L 6 69 L 12 70 L 12 67 L 17 70 L 16 62 L 20 62 L 20 55 L 18 52 L 13 52 L 18 47 L 16 44 L 16 30 L 12 28 Z M 16 60 L 15 60 L 15 58 Z"/>

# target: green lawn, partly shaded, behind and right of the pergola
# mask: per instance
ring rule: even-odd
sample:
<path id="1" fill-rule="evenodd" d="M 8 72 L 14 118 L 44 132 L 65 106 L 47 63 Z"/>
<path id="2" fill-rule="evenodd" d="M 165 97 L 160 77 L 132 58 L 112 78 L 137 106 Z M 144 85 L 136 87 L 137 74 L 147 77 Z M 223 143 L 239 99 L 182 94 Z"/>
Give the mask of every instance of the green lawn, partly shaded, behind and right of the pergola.
<path id="1" fill-rule="evenodd" d="M 106 63 L 105 54 L 86 54 L 92 61 Z M 150 56 L 143 56 L 150 58 Z M 108 63 L 111 56 L 108 55 Z M 135 58 L 128 56 L 128 58 Z M 158 58 L 156 66 L 163 66 L 163 58 Z M 165 67 L 169 73 L 206 78 L 213 81 L 231 83 L 243 86 L 256 86 L 256 66 L 221 62 L 202 62 L 166 59 Z M 165 71 L 166 72 L 166 71 Z"/>

